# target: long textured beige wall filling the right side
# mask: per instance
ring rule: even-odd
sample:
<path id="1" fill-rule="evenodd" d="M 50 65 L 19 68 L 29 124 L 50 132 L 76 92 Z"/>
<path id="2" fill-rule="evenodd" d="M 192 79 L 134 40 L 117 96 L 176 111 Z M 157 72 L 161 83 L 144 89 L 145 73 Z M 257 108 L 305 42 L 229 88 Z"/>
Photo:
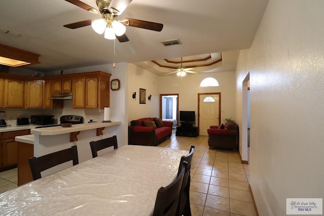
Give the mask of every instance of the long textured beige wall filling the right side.
<path id="1" fill-rule="evenodd" d="M 250 185 L 260 215 L 286 215 L 286 198 L 323 198 L 323 1 L 270 0 L 250 50 Z"/>

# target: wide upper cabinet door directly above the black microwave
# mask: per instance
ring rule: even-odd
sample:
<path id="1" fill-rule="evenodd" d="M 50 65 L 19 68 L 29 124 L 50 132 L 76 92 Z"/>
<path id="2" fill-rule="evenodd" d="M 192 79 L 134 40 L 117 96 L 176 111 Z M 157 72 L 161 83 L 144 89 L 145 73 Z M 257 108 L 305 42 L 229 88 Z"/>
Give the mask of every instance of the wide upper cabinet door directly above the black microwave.
<path id="1" fill-rule="evenodd" d="M 26 108 L 43 108 L 43 81 L 25 83 Z"/>

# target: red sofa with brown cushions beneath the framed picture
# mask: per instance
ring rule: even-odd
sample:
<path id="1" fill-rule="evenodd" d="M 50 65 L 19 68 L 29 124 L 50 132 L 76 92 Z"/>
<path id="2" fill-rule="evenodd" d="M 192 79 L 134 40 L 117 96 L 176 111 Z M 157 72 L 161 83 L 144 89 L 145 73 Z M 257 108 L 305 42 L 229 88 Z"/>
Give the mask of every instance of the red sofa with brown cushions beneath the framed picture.
<path id="1" fill-rule="evenodd" d="M 157 146 L 171 137 L 172 126 L 172 121 L 154 117 L 132 120 L 128 126 L 128 144 Z"/>

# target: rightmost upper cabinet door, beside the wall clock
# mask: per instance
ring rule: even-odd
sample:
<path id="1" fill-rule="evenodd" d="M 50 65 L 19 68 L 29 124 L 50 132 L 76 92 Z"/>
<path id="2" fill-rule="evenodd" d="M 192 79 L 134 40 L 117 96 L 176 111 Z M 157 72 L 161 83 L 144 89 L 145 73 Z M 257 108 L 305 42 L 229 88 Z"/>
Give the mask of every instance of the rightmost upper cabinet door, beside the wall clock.
<path id="1" fill-rule="evenodd" d="M 98 78 L 86 78 L 86 105 L 87 109 L 98 108 Z"/>

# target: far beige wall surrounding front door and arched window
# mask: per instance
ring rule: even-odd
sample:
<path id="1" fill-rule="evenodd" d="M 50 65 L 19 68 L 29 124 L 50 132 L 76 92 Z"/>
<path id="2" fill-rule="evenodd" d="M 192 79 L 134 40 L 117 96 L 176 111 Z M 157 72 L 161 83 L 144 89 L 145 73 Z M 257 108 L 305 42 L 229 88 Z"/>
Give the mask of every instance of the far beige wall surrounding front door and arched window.
<path id="1" fill-rule="evenodd" d="M 206 77 L 217 79 L 219 87 L 199 87 Z M 198 93 L 221 93 L 221 121 L 235 119 L 235 72 L 187 74 L 182 80 L 178 76 L 159 77 L 159 94 L 179 94 L 179 110 L 195 111 L 197 122 Z"/>

